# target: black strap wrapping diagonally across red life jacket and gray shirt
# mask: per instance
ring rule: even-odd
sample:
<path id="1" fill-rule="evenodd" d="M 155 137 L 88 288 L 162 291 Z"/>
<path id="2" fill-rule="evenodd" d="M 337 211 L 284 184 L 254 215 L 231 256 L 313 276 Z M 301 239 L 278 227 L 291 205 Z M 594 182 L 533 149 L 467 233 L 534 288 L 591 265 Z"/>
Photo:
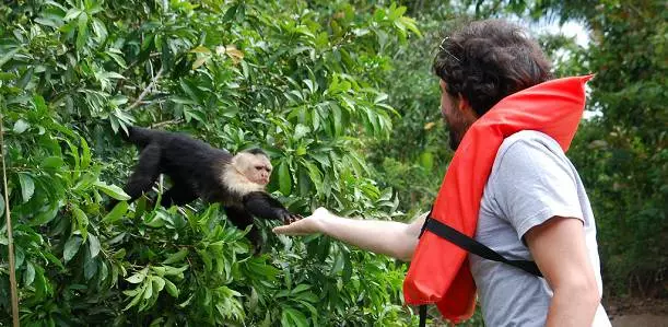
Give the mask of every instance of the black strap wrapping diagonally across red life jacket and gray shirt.
<path id="1" fill-rule="evenodd" d="M 431 218 L 429 215 L 424 222 L 424 226 L 430 232 L 454 243 L 455 245 L 466 249 L 469 253 L 483 257 L 488 260 L 500 261 L 519 268 L 528 273 L 537 277 L 542 277 L 542 272 L 534 261 L 528 260 L 508 260 L 497 252 L 487 247 L 484 244 L 461 234 L 459 231 Z"/>

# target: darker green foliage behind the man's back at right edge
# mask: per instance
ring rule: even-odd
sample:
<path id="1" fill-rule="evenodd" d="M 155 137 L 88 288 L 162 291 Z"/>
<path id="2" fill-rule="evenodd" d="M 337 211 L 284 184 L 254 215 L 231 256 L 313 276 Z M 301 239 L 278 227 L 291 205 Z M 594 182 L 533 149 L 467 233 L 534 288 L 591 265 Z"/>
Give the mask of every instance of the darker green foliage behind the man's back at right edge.
<path id="1" fill-rule="evenodd" d="M 586 56 L 596 73 L 590 104 L 601 117 L 574 151 L 591 189 L 610 289 L 642 296 L 668 295 L 664 7 L 603 1 L 587 16 L 596 44 Z"/>

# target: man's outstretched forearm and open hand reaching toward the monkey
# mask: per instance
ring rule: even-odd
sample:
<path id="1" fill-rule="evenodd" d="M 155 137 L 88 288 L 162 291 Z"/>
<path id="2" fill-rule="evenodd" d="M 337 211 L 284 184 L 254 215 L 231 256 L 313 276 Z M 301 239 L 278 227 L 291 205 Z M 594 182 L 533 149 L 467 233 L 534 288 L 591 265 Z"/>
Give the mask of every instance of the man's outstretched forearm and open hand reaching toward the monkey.
<path id="1" fill-rule="evenodd" d="M 365 250 L 410 261 L 418 246 L 418 235 L 426 214 L 407 224 L 396 221 L 342 218 L 325 208 L 318 208 L 312 215 L 290 225 L 277 226 L 273 232 L 285 235 L 324 233 Z"/>

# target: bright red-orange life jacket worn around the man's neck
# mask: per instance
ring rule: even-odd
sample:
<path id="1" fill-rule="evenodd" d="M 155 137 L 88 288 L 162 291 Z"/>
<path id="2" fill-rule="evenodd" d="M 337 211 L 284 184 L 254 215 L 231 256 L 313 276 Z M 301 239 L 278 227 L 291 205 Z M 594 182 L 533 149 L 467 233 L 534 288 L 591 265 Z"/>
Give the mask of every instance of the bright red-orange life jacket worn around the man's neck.
<path id="1" fill-rule="evenodd" d="M 555 79 L 525 89 L 501 100 L 476 120 L 455 152 L 427 222 L 435 220 L 472 237 L 482 192 L 504 138 L 520 130 L 538 130 L 567 151 L 584 112 L 585 83 L 590 78 Z M 410 305 L 436 303 L 441 314 L 455 324 L 470 318 L 476 284 L 467 252 L 423 227 L 403 281 L 403 296 Z"/>

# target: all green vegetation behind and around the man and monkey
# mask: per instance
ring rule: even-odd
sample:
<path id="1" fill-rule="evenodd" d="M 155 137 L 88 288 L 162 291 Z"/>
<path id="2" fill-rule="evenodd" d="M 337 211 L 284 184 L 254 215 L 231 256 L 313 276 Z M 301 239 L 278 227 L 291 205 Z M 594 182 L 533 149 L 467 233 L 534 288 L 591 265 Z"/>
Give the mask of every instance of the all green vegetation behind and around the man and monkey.
<path id="1" fill-rule="evenodd" d="M 556 75 L 596 73 L 596 115 L 567 154 L 597 218 L 603 301 L 668 297 L 663 1 L 22 0 L 0 3 L 0 326 L 8 207 L 25 326 L 414 325 L 406 262 L 276 236 L 273 222 L 259 222 L 268 246 L 253 256 L 244 231 L 200 202 L 106 212 L 137 157 L 118 133 L 259 145 L 292 210 L 408 221 L 452 156 L 431 72 L 440 36 L 484 17 L 586 27 L 587 47 L 535 36 Z"/>

